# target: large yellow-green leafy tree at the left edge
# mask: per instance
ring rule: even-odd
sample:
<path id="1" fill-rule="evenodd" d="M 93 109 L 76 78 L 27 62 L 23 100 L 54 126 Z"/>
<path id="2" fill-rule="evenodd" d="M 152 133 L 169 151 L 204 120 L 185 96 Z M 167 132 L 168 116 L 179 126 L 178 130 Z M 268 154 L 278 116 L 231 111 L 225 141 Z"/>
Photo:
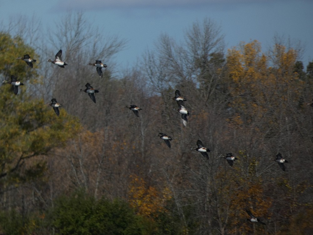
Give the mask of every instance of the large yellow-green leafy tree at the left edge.
<path id="1" fill-rule="evenodd" d="M 36 58 L 32 48 L 8 34 L 1 34 L 0 48 L 6 62 L 1 62 L 1 77 L 9 81 L 10 75 L 14 75 L 24 83 L 19 86 L 17 95 L 10 84 L 3 83 L 0 87 L 1 206 L 4 211 L 20 206 L 23 208 L 20 213 L 25 216 L 28 197 L 24 193 L 17 194 L 14 189 L 42 177 L 47 170 L 45 157 L 52 149 L 64 147 L 81 126 L 77 118 L 64 109 L 60 108 L 58 117 L 43 99 L 33 96 L 30 87 L 41 81 L 37 65 L 30 68 L 24 61 L 16 60 L 17 56 L 25 54 Z"/>

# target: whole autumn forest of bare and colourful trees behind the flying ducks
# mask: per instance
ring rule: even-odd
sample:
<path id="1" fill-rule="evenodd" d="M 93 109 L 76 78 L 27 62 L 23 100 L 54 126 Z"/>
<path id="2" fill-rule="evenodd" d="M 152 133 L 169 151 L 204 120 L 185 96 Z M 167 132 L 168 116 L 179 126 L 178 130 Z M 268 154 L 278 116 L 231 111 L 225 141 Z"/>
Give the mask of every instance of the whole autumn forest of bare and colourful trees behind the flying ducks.
<path id="1" fill-rule="evenodd" d="M 121 71 L 114 55 L 125 40 L 95 33 L 82 14 L 58 24 L 41 32 L 16 21 L 0 32 L 1 81 L 24 83 L 16 96 L 0 87 L 0 232 L 312 234 L 313 61 L 304 67 L 300 42 L 274 35 L 268 51 L 257 40 L 227 49 L 206 18 L 183 43 L 161 34 Z M 64 69 L 46 62 L 59 49 Z M 25 54 L 33 68 L 16 60 Z M 108 65 L 102 79 L 87 65 L 95 60 Z M 96 103 L 78 92 L 87 82 Z M 186 128 L 168 99 L 176 89 Z M 59 117 L 45 105 L 52 98 Z M 208 160 L 190 150 L 198 139 Z M 229 152 L 233 167 L 218 157 Z M 269 160 L 279 152 L 285 172 Z M 266 225 L 245 221 L 246 209 Z"/>

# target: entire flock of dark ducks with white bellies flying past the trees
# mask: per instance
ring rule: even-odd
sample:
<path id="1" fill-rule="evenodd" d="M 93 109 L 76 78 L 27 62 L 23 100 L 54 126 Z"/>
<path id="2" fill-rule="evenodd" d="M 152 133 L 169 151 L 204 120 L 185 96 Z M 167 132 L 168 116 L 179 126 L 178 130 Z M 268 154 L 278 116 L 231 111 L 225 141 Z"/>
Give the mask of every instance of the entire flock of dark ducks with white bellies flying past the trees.
<path id="1" fill-rule="evenodd" d="M 47 60 L 47 62 L 51 62 L 55 65 L 58 65 L 61 68 L 64 68 L 65 65 L 68 65 L 66 62 L 62 61 L 62 50 L 59 50 L 58 53 L 55 55 L 55 60 Z M 23 61 L 26 62 L 26 64 L 33 68 L 33 62 L 36 62 L 36 60 L 32 59 L 28 54 L 24 55 L 23 57 L 18 57 L 17 59 L 21 59 Z M 93 65 L 96 67 L 97 73 L 98 75 L 102 78 L 102 68 L 106 68 L 107 65 L 103 64 L 101 62 L 101 60 L 96 60 L 95 63 L 89 63 L 88 65 Z M 18 86 L 22 86 L 24 85 L 22 82 L 18 81 L 17 77 L 14 75 L 11 75 L 11 80 L 10 81 L 3 81 L 3 83 L 9 83 L 12 85 L 12 90 L 14 92 L 15 95 L 17 95 L 18 93 Z M 99 91 L 96 90 L 95 88 L 93 88 L 90 83 L 86 83 L 86 89 L 80 89 L 79 91 L 84 91 L 85 93 L 88 93 L 90 99 L 95 103 L 95 93 L 98 93 Z M 184 97 L 182 97 L 180 95 L 180 91 L 176 90 L 175 91 L 175 97 L 168 97 L 168 99 L 173 99 L 177 102 L 178 108 L 174 108 L 173 110 L 177 110 L 180 114 L 181 114 L 181 118 L 182 118 L 182 123 L 183 125 L 186 127 L 187 126 L 187 116 L 190 116 L 190 113 L 188 112 L 188 110 L 186 109 L 185 105 L 184 105 L 184 101 L 187 101 Z M 59 107 L 61 107 L 62 105 L 59 104 L 57 102 L 57 100 L 55 98 L 53 98 L 51 100 L 51 103 L 47 103 L 48 105 L 50 105 L 51 107 L 53 107 L 54 112 L 56 113 L 57 116 L 60 115 L 60 111 L 59 111 Z M 310 104 L 310 103 L 308 103 Z M 310 104 L 313 107 L 313 103 Z M 137 107 L 136 105 L 130 105 L 130 106 L 126 106 L 126 108 L 129 108 L 130 110 L 132 110 L 134 112 L 134 114 L 139 117 L 139 112 L 140 110 L 142 110 L 141 108 Z M 161 139 L 164 140 L 165 144 L 168 146 L 168 148 L 171 148 L 171 142 L 172 141 L 172 137 L 160 132 L 157 137 L 160 137 Z M 202 143 L 201 140 L 197 141 L 197 148 L 193 147 L 191 148 L 191 150 L 196 150 L 197 152 L 200 152 L 203 157 L 205 157 L 206 159 L 209 159 L 209 155 L 208 152 L 210 152 L 211 150 L 204 147 L 204 144 Z M 226 156 L 224 156 L 223 154 L 221 154 L 219 157 L 222 157 L 224 159 L 227 160 L 228 164 L 232 167 L 234 164 L 235 160 L 238 160 L 238 158 L 234 157 L 232 153 L 228 153 L 226 154 Z M 276 155 L 276 159 L 275 158 L 270 158 L 270 160 L 274 160 L 275 162 L 277 162 L 280 166 L 280 168 L 285 171 L 285 165 L 284 163 L 288 163 L 287 160 L 283 159 L 282 155 L 280 153 L 278 153 Z M 250 211 L 246 210 L 247 214 L 250 216 L 249 220 L 251 222 L 259 222 L 261 224 L 264 224 L 264 222 L 261 222 L 257 217 L 255 217 Z"/>

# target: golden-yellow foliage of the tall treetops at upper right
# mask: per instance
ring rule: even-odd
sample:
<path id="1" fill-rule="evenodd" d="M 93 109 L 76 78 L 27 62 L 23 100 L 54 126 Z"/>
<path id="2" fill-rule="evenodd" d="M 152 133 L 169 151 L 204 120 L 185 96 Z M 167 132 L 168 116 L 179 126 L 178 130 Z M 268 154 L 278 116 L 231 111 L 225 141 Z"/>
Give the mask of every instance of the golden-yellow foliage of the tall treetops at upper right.
<path id="1" fill-rule="evenodd" d="M 286 50 L 285 46 L 279 44 L 275 45 L 273 55 L 269 58 L 261 53 L 261 45 L 256 40 L 228 50 L 227 76 L 224 79 L 232 96 L 230 106 L 235 111 L 233 118 L 228 121 L 240 126 L 243 124 L 241 121 L 249 124 L 262 119 L 266 123 L 264 118 L 268 118 L 270 123 L 276 117 L 265 115 L 266 112 L 278 108 L 287 112 L 284 111 L 284 101 L 287 100 L 296 105 L 301 97 L 301 87 L 304 86 L 294 72 L 296 61 L 296 50 Z M 270 64 L 273 66 L 270 67 Z"/>

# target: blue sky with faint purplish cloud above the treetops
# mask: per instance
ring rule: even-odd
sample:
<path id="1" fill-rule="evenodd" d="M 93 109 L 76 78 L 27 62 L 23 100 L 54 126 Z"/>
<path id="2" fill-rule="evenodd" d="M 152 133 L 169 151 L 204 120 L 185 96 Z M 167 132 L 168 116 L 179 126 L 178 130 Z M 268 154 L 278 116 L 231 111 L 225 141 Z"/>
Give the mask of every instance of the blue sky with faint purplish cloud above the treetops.
<path id="1" fill-rule="evenodd" d="M 220 25 L 227 48 L 256 39 L 265 51 L 275 34 L 300 40 L 306 67 L 313 60 L 312 9 L 311 0 L 11 0 L 0 2 L 0 21 L 35 15 L 43 27 L 53 28 L 69 10 L 80 11 L 104 34 L 128 40 L 116 57 L 127 67 L 153 49 L 161 33 L 183 41 L 192 23 L 210 18 Z"/>

